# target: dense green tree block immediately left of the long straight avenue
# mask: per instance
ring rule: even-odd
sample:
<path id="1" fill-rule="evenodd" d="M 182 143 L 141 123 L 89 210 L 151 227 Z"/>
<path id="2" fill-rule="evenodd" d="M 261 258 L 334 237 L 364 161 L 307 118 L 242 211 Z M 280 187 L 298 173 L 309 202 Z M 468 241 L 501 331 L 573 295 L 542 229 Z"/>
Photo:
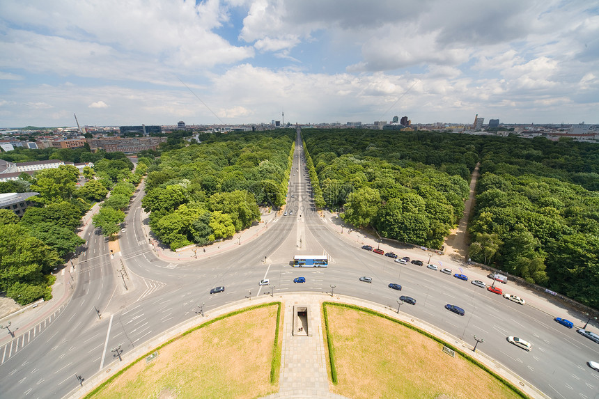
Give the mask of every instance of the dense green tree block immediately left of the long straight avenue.
<path id="1" fill-rule="evenodd" d="M 232 237 L 285 203 L 295 131 L 203 134 L 150 167 L 142 205 L 171 249 Z"/>

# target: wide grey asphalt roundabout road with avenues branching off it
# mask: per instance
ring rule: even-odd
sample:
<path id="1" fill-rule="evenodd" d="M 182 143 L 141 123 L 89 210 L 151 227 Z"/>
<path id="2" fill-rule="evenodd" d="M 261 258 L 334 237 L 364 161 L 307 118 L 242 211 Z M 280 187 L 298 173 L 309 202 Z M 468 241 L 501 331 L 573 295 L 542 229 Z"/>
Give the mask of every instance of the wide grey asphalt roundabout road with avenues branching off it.
<path id="1" fill-rule="evenodd" d="M 337 294 L 390 308 L 398 307 L 400 295 L 414 297 L 417 304 L 403 304 L 401 312 L 472 345 L 474 335 L 482 337 L 479 351 L 547 396 L 599 397 L 599 373 L 586 366 L 586 361 L 599 360 L 599 345 L 576 334 L 575 329 L 567 329 L 537 308 L 510 302 L 470 281 L 426 267 L 399 265 L 391 258 L 364 251 L 359 242 L 333 233 L 313 205 L 299 143 L 286 205 L 293 214 L 271 221 L 260 237 L 235 250 L 186 262 L 157 258 L 155 246 L 150 244 L 152 237 L 142 224 L 141 195 L 132 201 L 127 229 L 119 240 L 121 251 L 115 258 L 109 254 L 104 237 L 90 230 L 68 304 L 50 320 L 17 334 L 15 340 L 0 347 L 0 396 L 63 397 L 77 389 L 76 375 L 81 375 L 85 384 L 85 379 L 118 361 L 119 354 L 127 357 L 135 347 L 202 311 L 247 297 L 272 295 L 273 291 L 331 292 L 334 285 Z M 329 266 L 291 267 L 293 256 L 300 254 L 326 254 Z M 427 260 L 426 256 L 420 258 Z M 444 267 L 458 272 L 459 265 L 445 263 Z M 293 283 L 297 276 L 306 277 L 306 283 Z M 370 276 L 373 281 L 361 282 L 360 276 Z M 259 286 L 258 281 L 264 278 L 270 279 L 270 285 Z M 403 289 L 392 290 L 389 283 L 399 283 Z M 224 285 L 225 291 L 210 295 L 210 288 L 218 285 Z M 511 289 L 509 285 L 501 288 L 508 292 Z M 446 311 L 445 304 L 456 304 L 466 313 L 460 316 Z M 531 352 L 511 345 L 507 336 L 531 342 Z M 120 348 L 118 354 L 111 352 L 116 348 Z"/>

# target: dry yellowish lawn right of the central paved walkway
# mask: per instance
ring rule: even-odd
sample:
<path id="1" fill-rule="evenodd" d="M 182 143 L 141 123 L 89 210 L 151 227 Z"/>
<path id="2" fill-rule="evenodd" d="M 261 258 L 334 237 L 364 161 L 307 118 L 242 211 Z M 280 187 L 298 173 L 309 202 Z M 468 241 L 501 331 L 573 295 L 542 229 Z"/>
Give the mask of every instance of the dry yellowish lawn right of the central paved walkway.
<path id="1" fill-rule="evenodd" d="M 382 317 L 327 306 L 338 384 L 347 398 L 522 398 L 485 370 Z M 326 347 L 326 345 L 325 345 Z"/>

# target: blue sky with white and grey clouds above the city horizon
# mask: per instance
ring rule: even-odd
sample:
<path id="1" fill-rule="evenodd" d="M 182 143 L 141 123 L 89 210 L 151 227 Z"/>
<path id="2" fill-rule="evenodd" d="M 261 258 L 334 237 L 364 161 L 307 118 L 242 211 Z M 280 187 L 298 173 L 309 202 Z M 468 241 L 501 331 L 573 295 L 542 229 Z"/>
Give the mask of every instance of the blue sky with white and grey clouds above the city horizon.
<path id="1" fill-rule="evenodd" d="M 1 0 L 0 127 L 599 123 L 599 0 Z"/>

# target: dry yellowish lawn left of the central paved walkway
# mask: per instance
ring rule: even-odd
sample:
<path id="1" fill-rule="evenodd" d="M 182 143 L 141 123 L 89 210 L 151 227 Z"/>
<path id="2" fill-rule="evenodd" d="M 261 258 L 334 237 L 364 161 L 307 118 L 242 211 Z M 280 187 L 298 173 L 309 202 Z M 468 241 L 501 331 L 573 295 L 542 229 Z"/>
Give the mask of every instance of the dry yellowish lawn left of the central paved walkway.
<path id="1" fill-rule="evenodd" d="M 277 306 L 218 320 L 141 359 L 91 398 L 258 398 L 270 384 Z M 126 356 L 126 354 L 125 354 Z M 279 354 L 280 356 L 280 354 Z"/>

